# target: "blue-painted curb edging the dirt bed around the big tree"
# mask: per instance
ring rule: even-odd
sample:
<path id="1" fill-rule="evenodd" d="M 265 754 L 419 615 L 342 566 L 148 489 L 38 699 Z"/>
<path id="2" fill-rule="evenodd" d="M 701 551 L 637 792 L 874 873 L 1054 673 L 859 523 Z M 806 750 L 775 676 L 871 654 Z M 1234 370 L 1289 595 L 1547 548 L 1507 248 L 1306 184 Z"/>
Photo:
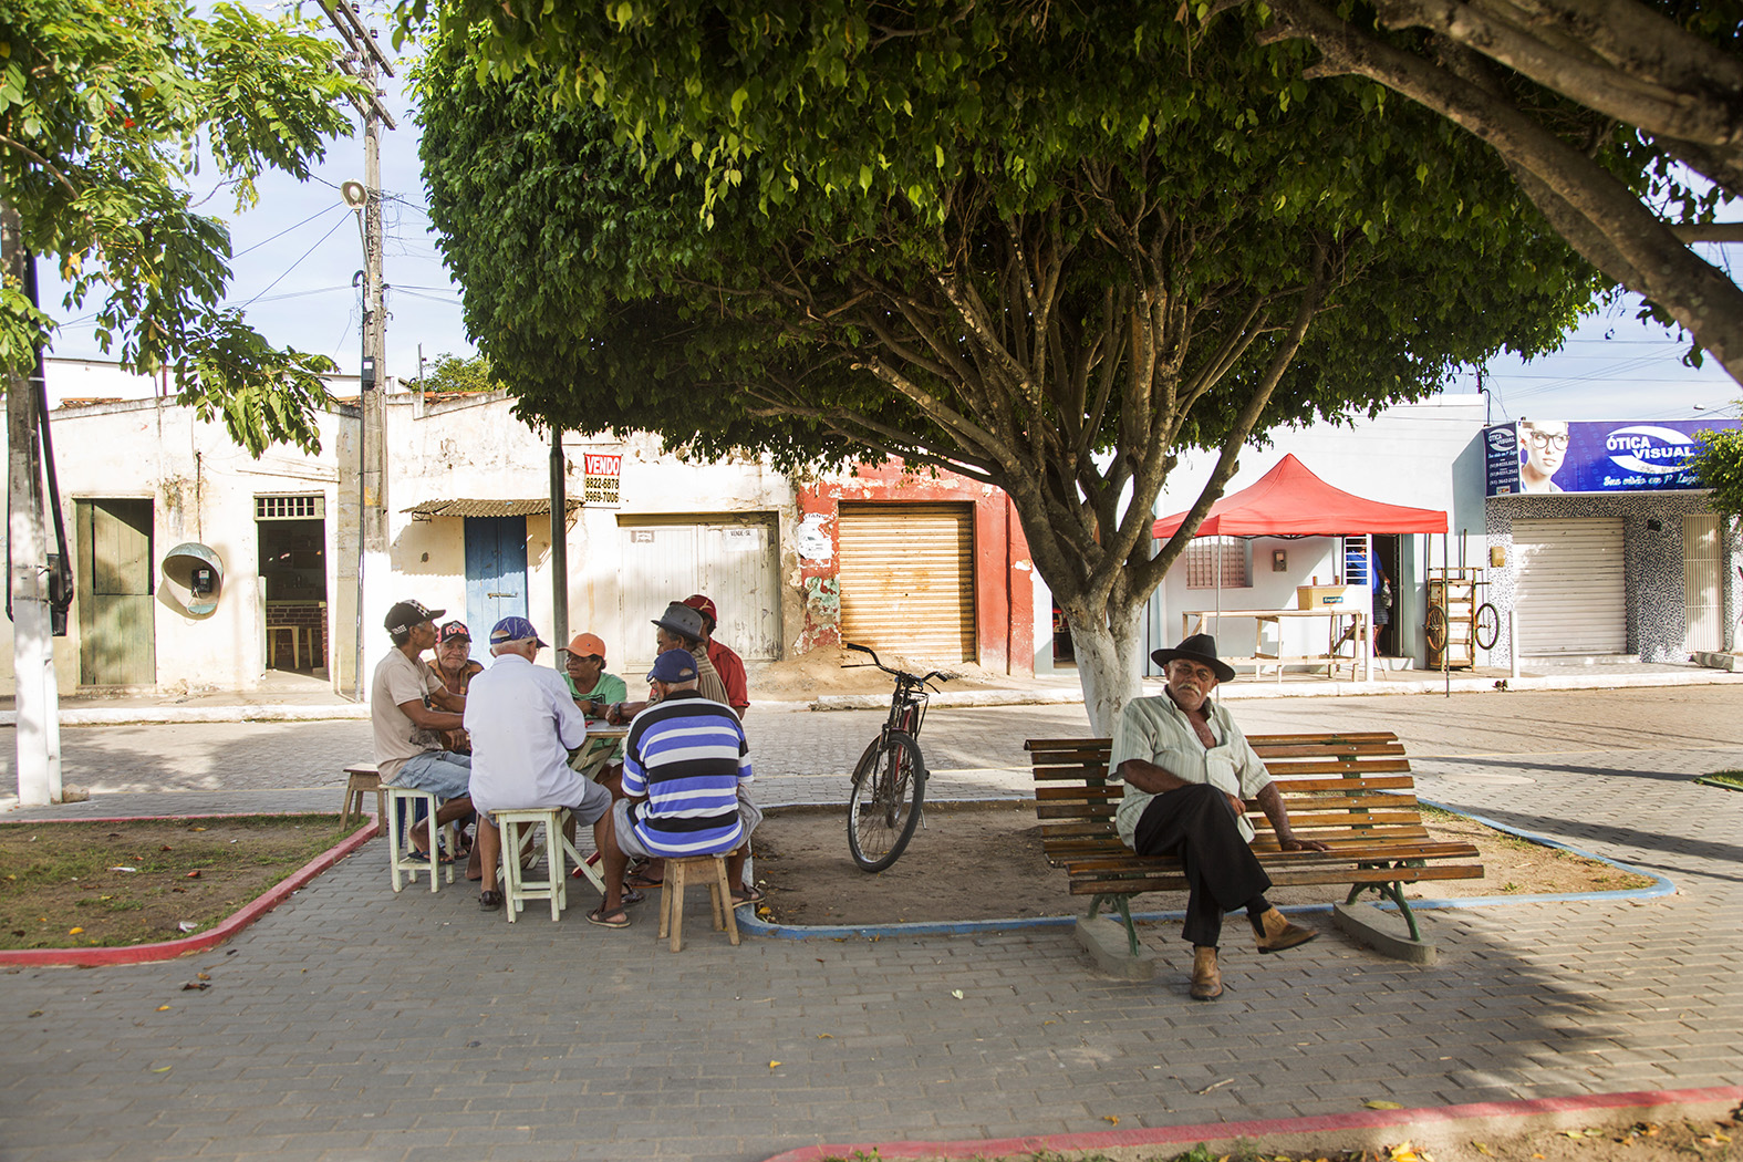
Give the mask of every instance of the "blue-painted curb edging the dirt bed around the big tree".
<path id="1" fill-rule="evenodd" d="M 1466 895 L 1459 899 L 1414 899 L 1410 901 L 1412 911 L 1429 909 L 1454 909 L 1454 908 L 1497 908 L 1504 904 L 1550 904 L 1550 902 L 1567 902 L 1567 901 L 1624 901 L 1624 899 L 1659 899 L 1663 895 L 1675 895 L 1677 885 L 1668 878 L 1658 875 L 1656 871 L 1647 871 L 1645 868 L 1635 868 L 1633 864 L 1624 864 L 1618 859 L 1609 859 L 1607 855 L 1598 855 L 1597 852 L 1588 852 L 1584 848 L 1574 847 L 1570 843 L 1562 843 L 1560 840 L 1551 840 L 1550 836 L 1537 834 L 1536 831 L 1522 831 L 1520 828 L 1508 826 L 1504 822 L 1495 822 L 1485 815 L 1473 815 L 1471 812 L 1461 812 L 1445 803 L 1436 803 L 1433 800 L 1417 800 L 1428 807 L 1440 808 L 1452 815 L 1462 815 L 1464 819 L 1473 819 L 1485 828 L 1494 828 L 1495 831 L 1516 836 L 1529 843 L 1537 843 L 1539 847 L 1553 847 L 1572 855 L 1583 855 L 1584 859 L 1595 859 L 1600 864 L 1609 864 L 1619 871 L 1628 871 L 1637 876 L 1645 876 L 1652 880 L 1651 887 L 1644 888 L 1621 888 L 1616 892 L 1567 892 L 1562 895 L 1541 894 L 1541 895 Z M 1393 902 L 1377 902 L 1377 908 L 1398 911 Z M 1332 904 L 1299 904 L 1293 908 L 1285 908 L 1283 911 L 1307 915 L 1307 913 L 1330 913 Z M 1185 911 L 1135 911 L 1131 918 L 1145 923 L 1159 923 L 1164 920 L 1183 920 Z M 976 936 L 988 932 L 1023 932 L 1030 929 L 1063 929 L 1075 925 L 1077 915 L 1070 916 L 1030 916 L 1030 918 L 1009 918 L 1009 920 L 946 920 L 933 923 L 769 923 L 767 920 L 758 920 L 755 913 L 739 918 L 739 930 L 749 932 L 751 936 L 762 936 L 772 941 L 810 941 L 810 939 L 882 939 L 899 937 L 899 936 Z"/>

